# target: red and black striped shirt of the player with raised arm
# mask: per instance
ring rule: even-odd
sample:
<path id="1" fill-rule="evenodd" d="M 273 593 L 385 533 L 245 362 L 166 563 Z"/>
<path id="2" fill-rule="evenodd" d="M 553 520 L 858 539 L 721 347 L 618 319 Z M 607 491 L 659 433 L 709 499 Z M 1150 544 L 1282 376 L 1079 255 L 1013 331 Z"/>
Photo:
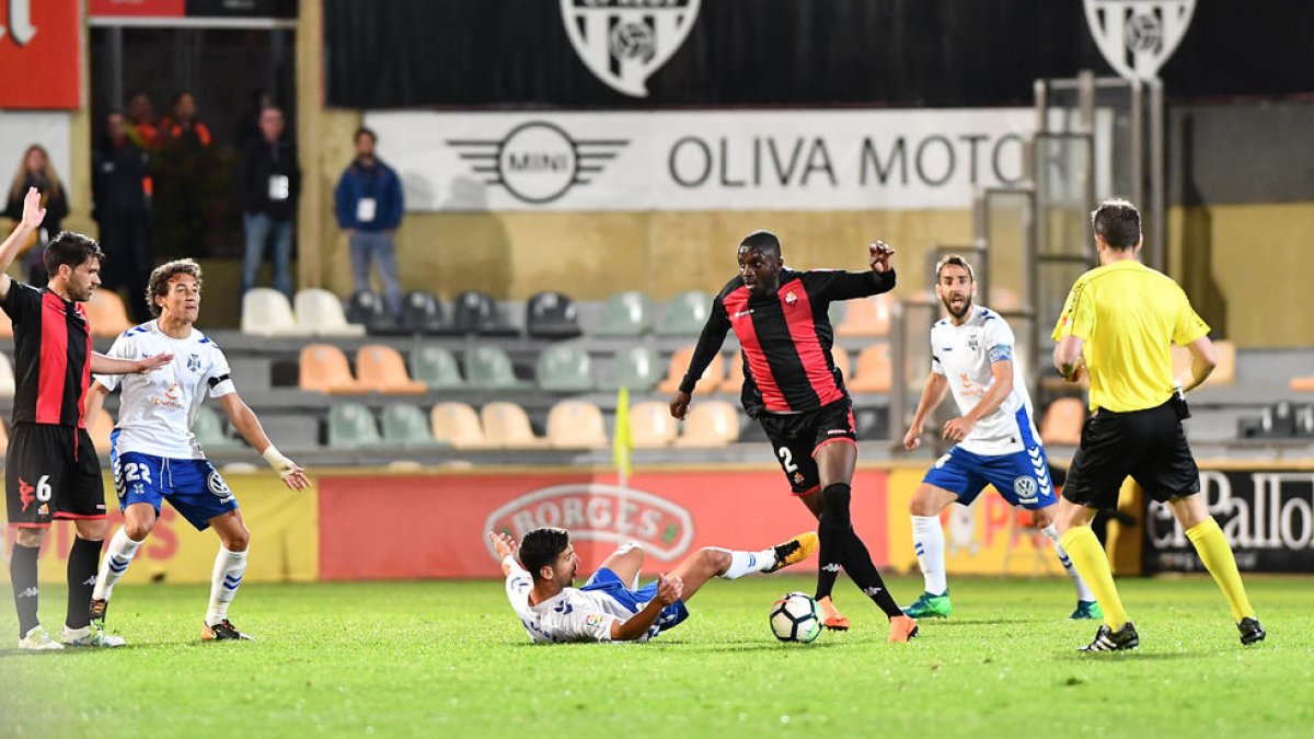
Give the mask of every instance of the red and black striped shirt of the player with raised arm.
<path id="1" fill-rule="evenodd" d="M 83 426 L 92 348 L 81 304 L 13 280 L 0 309 L 13 321 L 13 422 Z"/>

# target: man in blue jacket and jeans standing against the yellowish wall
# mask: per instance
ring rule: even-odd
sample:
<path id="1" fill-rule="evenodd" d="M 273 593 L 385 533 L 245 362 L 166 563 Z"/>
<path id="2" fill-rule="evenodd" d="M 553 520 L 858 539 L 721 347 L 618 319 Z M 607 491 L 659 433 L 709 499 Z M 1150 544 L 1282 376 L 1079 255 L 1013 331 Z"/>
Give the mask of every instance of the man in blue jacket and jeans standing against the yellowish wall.
<path id="1" fill-rule="evenodd" d="M 338 225 L 351 247 L 351 272 L 356 291 L 369 289 L 369 264 L 378 263 L 388 309 L 401 317 L 402 287 L 397 272 L 393 235 L 402 222 L 402 181 L 374 155 L 374 131 L 356 130 L 356 159 L 342 174 L 334 191 Z"/>

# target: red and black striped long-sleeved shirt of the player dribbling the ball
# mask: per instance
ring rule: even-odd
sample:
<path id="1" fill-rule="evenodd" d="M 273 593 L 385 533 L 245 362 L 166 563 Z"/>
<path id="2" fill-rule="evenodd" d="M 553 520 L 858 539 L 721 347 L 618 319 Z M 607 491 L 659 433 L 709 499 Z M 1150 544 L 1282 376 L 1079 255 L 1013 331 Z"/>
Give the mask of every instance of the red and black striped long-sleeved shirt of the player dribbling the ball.
<path id="1" fill-rule="evenodd" d="M 703 371 L 725 342 L 725 331 L 738 337 L 744 360 L 744 410 L 757 416 L 799 413 L 849 397 L 834 367 L 830 346 L 834 330 L 827 314 L 830 302 L 890 292 L 894 270 L 845 272 L 781 270 L 775 295 L 757 297 L 735 277 L 712 301 L 679 389 L 691 393 Z"/>

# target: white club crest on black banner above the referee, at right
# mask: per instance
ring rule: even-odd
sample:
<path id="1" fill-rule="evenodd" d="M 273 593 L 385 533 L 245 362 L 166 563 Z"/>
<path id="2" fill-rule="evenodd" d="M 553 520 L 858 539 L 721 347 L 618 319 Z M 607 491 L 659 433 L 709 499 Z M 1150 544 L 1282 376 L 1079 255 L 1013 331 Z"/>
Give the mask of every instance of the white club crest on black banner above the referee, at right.
<path id="1" fill-rule="evenodd" d="M 1187 36 L 1196 0 L 1084 0 L 1091 36 L 1125 79 L 1159 76 Z"/>

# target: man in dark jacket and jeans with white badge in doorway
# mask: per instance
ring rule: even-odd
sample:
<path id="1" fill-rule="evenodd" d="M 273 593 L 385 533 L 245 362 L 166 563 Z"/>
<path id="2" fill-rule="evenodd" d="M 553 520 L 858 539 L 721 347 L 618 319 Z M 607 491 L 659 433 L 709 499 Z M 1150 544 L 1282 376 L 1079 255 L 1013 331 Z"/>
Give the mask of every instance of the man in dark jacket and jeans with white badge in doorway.
<path id="1" fill-rule="evenodd" d="M 272 237 L 273 287 L 292 300 L 292 222 L 301 195 L 301 168 L 296 147 L 283 133 L 283 110 L 261 110 L 260 137 L 242 150 L 233 179 L 246 229 L 242 292 L 255 287 Z"/>

